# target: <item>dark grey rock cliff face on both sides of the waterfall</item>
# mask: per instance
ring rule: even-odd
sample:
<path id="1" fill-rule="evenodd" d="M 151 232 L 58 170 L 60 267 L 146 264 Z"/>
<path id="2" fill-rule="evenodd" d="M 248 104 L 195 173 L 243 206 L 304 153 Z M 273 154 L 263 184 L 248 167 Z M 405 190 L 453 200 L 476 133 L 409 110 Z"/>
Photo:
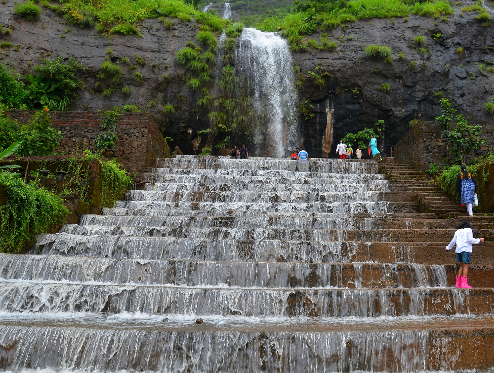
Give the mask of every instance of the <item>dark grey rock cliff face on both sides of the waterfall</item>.
<path id="1" fill-rule="evenodd" d="M 28 73 L 30 66 L 40 64 L 42 58 L 74 57 L 88 67 L 83 77 L 86 88 L 74 102 L 78 110 L 108 110 L 114 105 L 136 104 L 153 115 L 165 136 L 175 140 L 171 146 L 180 146 L 186 154 L 201 152 L 207 139 L 197 131 L 209 126 L 207 110 L 198 107 L 201 91 L 192 91 L 183 83 L 180 75 L 184 69 L 175 61 L 177 50 L 187 41 L 195 41 L 197 25 L 172 19 L 173 28 L 166 30 L 158 19 L 150 19 L 139 25 L 142 38 L 104 38 L 94 30 L 65 24 L 63 18 L 46 8 L 42 9 L 39 21 L 27 22 L 12 15 L 13 6 L 14 0 L 0 5 L 0 24 L 13 28 L 11 35 L 2 35 L 1 39 L 20 47 L 17 52 L 13 48 L 1 51 L 4 64 Z M 315 116 L 299 121 L 301 141 L 309 154 L 333 156 L 335 142 L 345 132 L 358 131 L 379 119 L 386 124 L 380 148 L 389 153 L 389 147 L 408 131 L 410 120 L 433 120 L 440 113 L 438 95 L 434 96 L 437 92 L 451 99 L 458 113 L 470 123 L 491 126 L 493 119 L 484 112 L 483 105 L 494 95 L 494 74 L 486 70 L 493 59 L 493 27 L 482 27 L 474 19 L 475 12 L 460 12 L 456 7 L 447 22 L 410 16 L 408 20 L 353 23 L 344 30 L 327 32 L 328 40 L 338 43 L 335 51 L 314 49 L 294 53 L 297 66 L 306 76 L 299 99 L 309 99 L 314 106 Z M 437 33 L 442 36 L 435 41 L 432 35 Z M 413 38 L 419 35 L 425 37 L 424 45 L 415 45 Z M 372 43 L 390 47 L 393 62 L 365 58 L 364 49 Z M 455 53 L 458 47 L 463 48 L 463 53 Z M 107 52 L 108 48 L 113 54 Z M 404 54 L 402 59 L 398 57 L 400 52 Z M 136 65 L 137 69 L 129 70 L 128 65 L 119 62 L 121 57 L 132 62 L 136 55 L 145 60 L 144 66 Z M 117 89 L 105 98 L 95 88 L 96 74 L 106 56 L 122 67 L 124 76 L 117 88 L 129 86 L 129 96 Z M 142 80 L 134 80 L 135 71 L 142 74 Z M 314 85 L 307 71 L 319 75 L 327 72 L 325 85 Z M 389 84 L 389 92 L 378 90 L 382 83 Z M 208 85 L 214 93 L 214 76 Z M 163 115 L 165 105 L 175 105 L 175 112 Z"/>

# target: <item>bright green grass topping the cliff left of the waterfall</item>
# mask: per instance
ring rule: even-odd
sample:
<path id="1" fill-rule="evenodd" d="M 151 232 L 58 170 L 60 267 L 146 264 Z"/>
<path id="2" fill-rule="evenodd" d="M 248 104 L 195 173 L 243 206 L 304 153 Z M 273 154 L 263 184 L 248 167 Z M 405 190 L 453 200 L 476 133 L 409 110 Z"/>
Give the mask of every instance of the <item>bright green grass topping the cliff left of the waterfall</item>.
<path id="1" fill-rule="evenodd" d="M 229 24 L 214 14 L 206 14 L 193 4 L 183 0 L 61 0 L 62 5 L 50 5 L 65 13 L 65 19 L 81 28 L 93 27 L 108 32 L 112 27 L 134 25 L 146 18 L 170 17 L 181 21 L 197 22 L 214 31 L 220 31 Z M 129 33 L 137 35 L 137 33 Z"/>

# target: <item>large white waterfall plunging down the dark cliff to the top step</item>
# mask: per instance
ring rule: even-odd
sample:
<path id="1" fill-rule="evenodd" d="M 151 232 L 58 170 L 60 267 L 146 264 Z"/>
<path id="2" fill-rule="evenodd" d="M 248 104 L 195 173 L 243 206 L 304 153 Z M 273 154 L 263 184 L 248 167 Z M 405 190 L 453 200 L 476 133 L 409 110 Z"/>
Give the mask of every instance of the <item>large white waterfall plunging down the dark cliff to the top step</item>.
<path id="1" fill-rule="evenodd" d="M 298 145 L 298 128 L 293 60 L 287 41 L 277 33 L 244 29 L 235 66 L 253 86 L 252 104 L 261 121 L 255 134 L 256 154 L 288 157 Z"/>

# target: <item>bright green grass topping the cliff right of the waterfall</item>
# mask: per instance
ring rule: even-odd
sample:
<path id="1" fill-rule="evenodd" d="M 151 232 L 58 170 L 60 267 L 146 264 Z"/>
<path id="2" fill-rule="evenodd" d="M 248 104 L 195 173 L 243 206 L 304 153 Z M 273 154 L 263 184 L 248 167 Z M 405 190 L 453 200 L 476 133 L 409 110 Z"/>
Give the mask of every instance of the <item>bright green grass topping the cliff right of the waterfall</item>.
<path id="1" fill-rule="evenodd" d="M 271 17 L 258 23 L 256 28 L 262 31 L 282 31 L 288 38 L 293 51 L 305 51 L 302 35 L 311 35 L 317 29 L 326 31 L 358 20 L 371 18 L 407 17 L 417 14 L 424 17 L 439 18 L 453 14 L 448 1 L 431 0 L 410 5 L 409 0 L 350 0 L 295 1 L 295 11 L 283 18 Z"/>

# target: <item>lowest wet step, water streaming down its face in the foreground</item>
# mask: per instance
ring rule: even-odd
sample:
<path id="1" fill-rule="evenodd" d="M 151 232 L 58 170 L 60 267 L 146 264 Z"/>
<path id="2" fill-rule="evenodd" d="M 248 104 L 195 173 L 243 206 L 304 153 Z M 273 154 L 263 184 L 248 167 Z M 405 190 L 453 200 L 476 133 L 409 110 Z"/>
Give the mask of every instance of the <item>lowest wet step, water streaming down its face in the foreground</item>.
<path id="1" fill-rule="evenodd" d="M 494 332 L 488 322 L 448 328 L 371 331 L 247 331 L 213 329 L 207 325 L 156 330 L 10 326 L 0 328 L 5 352 L 3 367 L 20 371 L 36 361 L 53 371 L 78 369 L 117 372 L 424 372 L 468 366 L 479 370 L 492 363 Z M 466 323 L 463 323 L 466 324 Z M 240 324 L 242 325 L 242 324 Z M 277 324 L 275 324 L 278 326 Z M 484 327 L 484 328 L 482 328 Z M 195 328 L 195 329 L 193 329 Z M 300 328 L 302 330 L 302 328 Z M 475 348 L 464 345 L 468 338 Z M 57 340 L 65 348 L 45 341 Z M 37 346 L 33 351 L 32 346 Z M 466 353 L 460 354 L 460 351 Z M 376 351 L 380 351 L 376 354 Z M 404 353 L 406 351 L 406 353 Z M 143 356 L 149 356 L 143 359 Z M 194 359 L 190 357 L 194 356 Z M 451 356 L 458 356 L 451 359 Z"/>

